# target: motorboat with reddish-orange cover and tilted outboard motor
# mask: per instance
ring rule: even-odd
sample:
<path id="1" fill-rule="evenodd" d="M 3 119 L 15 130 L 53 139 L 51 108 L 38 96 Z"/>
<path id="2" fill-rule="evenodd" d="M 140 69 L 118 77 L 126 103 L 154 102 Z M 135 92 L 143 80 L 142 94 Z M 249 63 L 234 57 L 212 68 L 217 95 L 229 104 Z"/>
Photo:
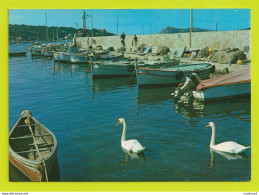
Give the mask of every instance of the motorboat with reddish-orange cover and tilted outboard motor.
<path id="1" fill-rule="evenodd" d="M 251 67 L 247 66 L 232 73 L 212 79 L 200 80 L 192 75 L 182 86 L 176 88 L 172 95 L 180 98 L 191 92 L 194 99 L 209 101 L 251 95 Z"/>

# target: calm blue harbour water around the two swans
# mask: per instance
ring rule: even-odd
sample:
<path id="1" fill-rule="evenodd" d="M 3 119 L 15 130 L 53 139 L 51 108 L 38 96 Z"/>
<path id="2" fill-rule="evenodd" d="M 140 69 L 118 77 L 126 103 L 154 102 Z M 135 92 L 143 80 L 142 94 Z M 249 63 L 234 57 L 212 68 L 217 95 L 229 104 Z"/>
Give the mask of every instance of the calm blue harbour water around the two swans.
<path id="1" fill-rule="evenodd" d="M 245 156 L 210 152 L 216 142 L 251 144 L 250 99 L 214 103 L 175 102 L 173 87 L 138 89 L 136 78 L 92 79 L 88 65 L 54 64 L 51 59 L 9 58 L 10 129 L 21 112 L 56 135 L 60 181 L 247 181 Z M 128 139 L 146 147 L 130 156 L 120 146 L 126 119 Z"/>

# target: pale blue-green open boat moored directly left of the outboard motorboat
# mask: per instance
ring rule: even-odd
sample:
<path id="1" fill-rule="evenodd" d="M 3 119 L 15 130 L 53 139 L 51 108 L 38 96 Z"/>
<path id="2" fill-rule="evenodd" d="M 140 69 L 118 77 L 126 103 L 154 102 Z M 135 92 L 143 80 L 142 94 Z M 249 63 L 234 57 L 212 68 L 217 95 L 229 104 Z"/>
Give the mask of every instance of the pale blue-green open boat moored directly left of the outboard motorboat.
<path id="1" fill-rule="evenodd" d="M 149 68 L 137 67 L 137 82 L 139 86 L 175 85 L 184 82 L 185 76 L 196 72 L 201 79 L 209 78 L 215 71 L 212 63 L 181 64 L 173 67 Z"/>

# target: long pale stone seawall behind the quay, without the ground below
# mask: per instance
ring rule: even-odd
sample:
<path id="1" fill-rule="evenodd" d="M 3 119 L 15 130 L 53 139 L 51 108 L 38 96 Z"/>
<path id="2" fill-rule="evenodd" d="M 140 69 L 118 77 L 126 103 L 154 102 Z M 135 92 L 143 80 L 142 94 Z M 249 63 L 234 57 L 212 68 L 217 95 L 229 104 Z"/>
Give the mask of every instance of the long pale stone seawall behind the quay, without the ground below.
<path id="1" fill-rule="evenodd" d="M 126 48 L 133 46 L 133 36 L 126 35 Z M 138 45 L 145 43 L 146 46 L 153 46 L 153 52 L 158 46 L 167 46 L 169 48 L 187 47 L 190 48 L 190 33 L 175 34 L 154 34 L 137 35 Z M 115 49 L 121 47 L 120 36 L 94 37 L 96 45 L 102 45 L 103 48 L 113 46 Z M 77 42 L 83 47 L 87 47 L 85 37 L 77 38 Z M 213 31 L 213 32 L 194 32 L 192 33 L 191 48 L 209 47 L 213 49 L 239 48 L 244 49 L 249 46 L 247 58 L 250 59 L 251 31 Z"/>

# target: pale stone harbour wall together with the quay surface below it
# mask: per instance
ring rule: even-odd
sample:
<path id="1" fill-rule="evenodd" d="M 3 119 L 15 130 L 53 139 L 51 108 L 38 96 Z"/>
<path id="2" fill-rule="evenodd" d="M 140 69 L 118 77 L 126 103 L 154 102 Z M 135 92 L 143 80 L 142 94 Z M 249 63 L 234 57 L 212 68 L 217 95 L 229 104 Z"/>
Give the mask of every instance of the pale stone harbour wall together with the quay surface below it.
<path id="1" fill-rule="evenodd" d="M 193 51 L 195 53 L 203 48 L 211 48 L 213 52 L 235 48 L 244 52 L 246 60 L 242 61 L 241 64 L 237 62 L 222 63 L 214 60 L 212 62 L 215 64 L 216 71 L 221 72 L 227 68 L 229 72 L 232 72 L 244 64 L 249 65 L 251 62 L 251 30 L 193 32 L 191 35 L 190 33 L 137 35 L 137 38 L 137 47 L 141 47 L 141 45 L 152 47 L 152 52 L 141 55 L 141 57 L 144 56 L 149 60 L 164 57 L 157 55 L 161 47 L 169 48 L 169 56 L 172 56 L 175 51 L 182 51 L 182 48 L 185 48 L 181 56 L 181 63 L 206 61 L 206 58 L 197 59 L 193 56 Z M 93 39 L 93 47 L 98 45 L 101 45 L 104 49 L 113 47 L 115 51 L 121 48 L 120 36 L 93 37 Z M 74 41 L 82 49 L 89 46 L 87 37 L 78 37 Z M 126 58 L 140 58 L 137 47 L 134 45 L 134 35 L 126 35 L 124 56 Z"/>

